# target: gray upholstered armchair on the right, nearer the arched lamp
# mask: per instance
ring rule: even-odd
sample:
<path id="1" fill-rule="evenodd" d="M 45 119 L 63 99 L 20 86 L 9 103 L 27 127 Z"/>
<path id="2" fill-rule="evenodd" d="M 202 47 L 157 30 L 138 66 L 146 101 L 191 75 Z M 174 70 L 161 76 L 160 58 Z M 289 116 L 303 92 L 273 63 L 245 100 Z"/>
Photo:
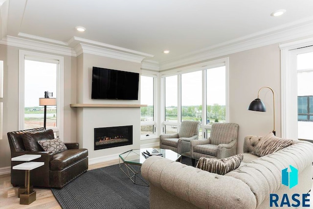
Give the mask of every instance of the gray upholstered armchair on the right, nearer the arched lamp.
<path id="1" fill-rule="evenodd" d="M 236 123 L 213 123 L 209 139 L 190 142 L 191 158 L 223 159 L 236 155 L 238 128 Z"/>

